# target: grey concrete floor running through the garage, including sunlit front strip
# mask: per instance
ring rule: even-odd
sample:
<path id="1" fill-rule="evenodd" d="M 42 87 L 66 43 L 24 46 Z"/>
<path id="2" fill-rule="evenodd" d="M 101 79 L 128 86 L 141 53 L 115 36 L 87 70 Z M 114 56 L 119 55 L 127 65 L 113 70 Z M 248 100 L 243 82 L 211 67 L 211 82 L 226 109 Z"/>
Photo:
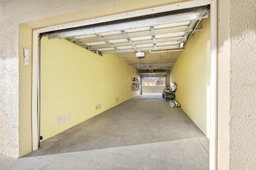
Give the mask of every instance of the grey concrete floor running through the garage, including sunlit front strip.
<path id="1" fill-rule="evenodd" d="M 40 143 L 0 170 L 207 170 L 209 140 L 161 93 L 144 93 Z"/>

